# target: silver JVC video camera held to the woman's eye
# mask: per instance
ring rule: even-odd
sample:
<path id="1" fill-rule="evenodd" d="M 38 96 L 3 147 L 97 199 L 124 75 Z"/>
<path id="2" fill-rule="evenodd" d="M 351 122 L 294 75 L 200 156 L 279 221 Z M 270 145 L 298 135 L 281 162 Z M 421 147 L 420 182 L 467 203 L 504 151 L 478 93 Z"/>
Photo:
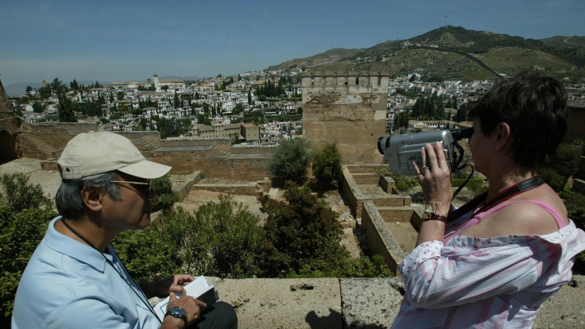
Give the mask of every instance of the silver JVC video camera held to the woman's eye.
<path id="1" fill-rule="evenodd" d="M 442 140 L 449 169 L 455 171 L 463 159 L 463 148 L 457 141 L 470 138 L 472 134 L 473 128 L 461 128 L 380 137 L 378 151 L 384 155 L 390 170 L 394 173 L 416 176 L 417 172 L 412 162 L 422 165 L 421 148 L 426 143 L 432 144 Z"/>

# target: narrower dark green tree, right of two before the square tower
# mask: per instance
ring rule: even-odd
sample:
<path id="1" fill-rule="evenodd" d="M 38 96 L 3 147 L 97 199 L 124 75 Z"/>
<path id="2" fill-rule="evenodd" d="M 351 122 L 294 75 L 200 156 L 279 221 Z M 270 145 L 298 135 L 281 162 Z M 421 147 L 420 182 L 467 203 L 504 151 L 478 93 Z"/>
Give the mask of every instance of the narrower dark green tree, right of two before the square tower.
<path id="1" fill-rule="evenodd" d="M 327 143 L 321 152 L 315 155 L 312 163 L 315 179 L 322 186 L 331 183 L 339 184 L 342 176 L 341 155 L 337 149 L 337 143 Z"/>

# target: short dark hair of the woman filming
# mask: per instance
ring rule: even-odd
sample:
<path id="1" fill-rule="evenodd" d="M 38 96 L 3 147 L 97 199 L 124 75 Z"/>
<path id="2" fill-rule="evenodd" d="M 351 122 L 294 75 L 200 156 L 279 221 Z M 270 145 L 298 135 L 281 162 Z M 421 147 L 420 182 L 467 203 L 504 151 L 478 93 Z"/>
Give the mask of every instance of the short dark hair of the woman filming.
<path id="1" fill-rule="evenodd" d="M 553 77 L 524 72 L 502 80 L 470 106 L 469 116 L 479 118 L 489 135 L 500 122 L 510 125 L 511 152 L 517 165 L 537 169 L 556 155 L 567 132 L 567 94 Z"/>

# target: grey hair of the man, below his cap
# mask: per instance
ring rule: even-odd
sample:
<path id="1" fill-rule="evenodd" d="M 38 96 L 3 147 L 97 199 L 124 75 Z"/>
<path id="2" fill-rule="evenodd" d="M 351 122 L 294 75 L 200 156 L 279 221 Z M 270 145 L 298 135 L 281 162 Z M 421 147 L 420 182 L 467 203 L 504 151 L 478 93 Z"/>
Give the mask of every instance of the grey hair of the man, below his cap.
<path id="1" fill-rule="evenodd" d="M 55 196 L 55 205 L 61 216 L 68 220 L 79 220 L 85 213 L 85 206 L 81 198 L 81 189 L 84 186 L 95 186 L 108 193 L 112 200 L 122 200 L 120 186 L 111 183 L 116 180 L 116 172 L 105 172 L 80 179 L 61 180 L 61 186 Z"/>

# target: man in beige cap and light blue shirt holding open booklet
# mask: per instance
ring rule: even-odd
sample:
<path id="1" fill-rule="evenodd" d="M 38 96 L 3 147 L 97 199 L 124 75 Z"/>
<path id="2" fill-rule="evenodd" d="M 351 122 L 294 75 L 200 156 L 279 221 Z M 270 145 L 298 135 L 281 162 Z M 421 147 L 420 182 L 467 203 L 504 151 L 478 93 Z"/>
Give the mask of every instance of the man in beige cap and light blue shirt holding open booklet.
<path id="1" fill-rule="evenodd" d="M 12 328 L 237 328 L 229 304 L 207 306 L 183 293 L 191 275 L 136 283 L 109 242 L 150 224 L 150 180 L 171 167 L 144 159 L 127 138 L 111 132 L 81 133 L 59 161 L 60 216 L 22 275 Z M 147 298 L 170 294 L 161 321 Z"/>

